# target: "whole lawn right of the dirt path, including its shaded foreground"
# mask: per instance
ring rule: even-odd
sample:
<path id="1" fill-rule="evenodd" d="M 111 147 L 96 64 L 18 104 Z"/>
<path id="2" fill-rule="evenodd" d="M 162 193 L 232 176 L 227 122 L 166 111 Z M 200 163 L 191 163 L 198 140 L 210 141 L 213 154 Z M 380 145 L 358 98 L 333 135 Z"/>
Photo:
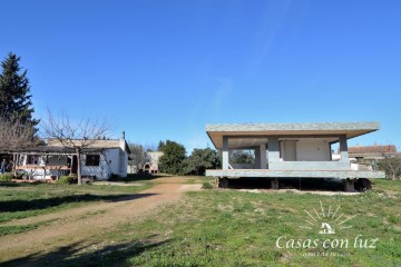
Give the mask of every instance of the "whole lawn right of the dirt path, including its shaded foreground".
<path id="1" fill-rule="evenodd" d="M 380 180 L 373 188 L 353 196 L 188 192 L 179 202 L 99 233 L 86 244 L 20 260 L 32 266 L 53 258 L 58 259 L 55 266 L 401 266 L 401 184 Z M 319 210 L 320 201 L 326 210 L 341 205 L 345 217 L 356 215 L 346 224 L 352 228 L 338 229 L 335 235 L 317 234 L 320 225 L 300 228 L 307 219 L 304 210 Z M 353 248 L 359 235 L 379 238 L 376 247 Z M 278 248 L 278 237 L 349 239 L 350 247 Z"/>

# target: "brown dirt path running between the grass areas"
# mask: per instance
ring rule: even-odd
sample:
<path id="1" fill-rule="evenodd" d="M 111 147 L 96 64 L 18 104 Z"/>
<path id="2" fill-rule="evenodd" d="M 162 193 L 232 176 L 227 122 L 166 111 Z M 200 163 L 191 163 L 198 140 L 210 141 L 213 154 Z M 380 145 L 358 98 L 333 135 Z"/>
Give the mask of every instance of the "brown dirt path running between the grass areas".
<path id="1" fill-rule="evenodd" d="M 200 185 L 183 185 L 186 180 L 184 177 L 158 178 L 153 180 L 156 184 L 153 188 L 117 201 L 16 220 L 13 225 L 52 221 L 28 233 L 0 237 L 0 261 L 85 241 L 96 233 L 144 217 L 155 208 L 177 201 L 184 191 L 200 188 Z"/>

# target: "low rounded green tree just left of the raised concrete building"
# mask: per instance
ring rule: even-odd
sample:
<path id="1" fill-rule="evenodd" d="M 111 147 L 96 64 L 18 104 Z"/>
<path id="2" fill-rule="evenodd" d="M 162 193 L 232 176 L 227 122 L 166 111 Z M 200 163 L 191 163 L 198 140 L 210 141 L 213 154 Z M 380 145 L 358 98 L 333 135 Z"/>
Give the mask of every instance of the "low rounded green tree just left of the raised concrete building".
<path id="1" fill-rule="evenodd" d="M 190 156 L 185 160 L 187 175 L 205 175 L 206 169 L 216 169 L 222 167 L 222 159 L 216 150 L 211 148 L 194 149 Z"/>

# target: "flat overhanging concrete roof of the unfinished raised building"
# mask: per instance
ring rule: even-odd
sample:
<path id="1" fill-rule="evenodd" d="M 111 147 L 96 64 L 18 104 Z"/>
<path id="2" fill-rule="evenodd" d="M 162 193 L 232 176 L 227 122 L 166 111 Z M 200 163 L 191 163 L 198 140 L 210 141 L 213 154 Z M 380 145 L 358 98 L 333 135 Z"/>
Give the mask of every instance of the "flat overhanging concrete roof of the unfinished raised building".
<path id="1" fill-rule="evenodd" d="M 242 123 L 206 125 L 206 132 L 214 146 L 223 147 L 223 136 L 236 138 L 278 137 L 338 137 L 348 139 L 380 129 L 379 122 L 306 122 L 306 123 Z"/>

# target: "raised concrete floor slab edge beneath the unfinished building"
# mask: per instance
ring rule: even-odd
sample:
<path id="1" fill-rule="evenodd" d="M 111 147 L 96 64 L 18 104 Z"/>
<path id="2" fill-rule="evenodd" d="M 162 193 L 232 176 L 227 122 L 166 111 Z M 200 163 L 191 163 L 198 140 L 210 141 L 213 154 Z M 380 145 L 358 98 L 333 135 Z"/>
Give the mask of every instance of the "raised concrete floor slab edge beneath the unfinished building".
<path id="1" fill-rule="evenodd" d="M 239 178 L 239 177 L 265 177 L 265 178 L 338 178 L 338 179 L 376 179 L 385 178 L 384 171 L 363 170 L 270 170 L 270 169 L 228 169 L 206 170 L 206 176 Z"/>

